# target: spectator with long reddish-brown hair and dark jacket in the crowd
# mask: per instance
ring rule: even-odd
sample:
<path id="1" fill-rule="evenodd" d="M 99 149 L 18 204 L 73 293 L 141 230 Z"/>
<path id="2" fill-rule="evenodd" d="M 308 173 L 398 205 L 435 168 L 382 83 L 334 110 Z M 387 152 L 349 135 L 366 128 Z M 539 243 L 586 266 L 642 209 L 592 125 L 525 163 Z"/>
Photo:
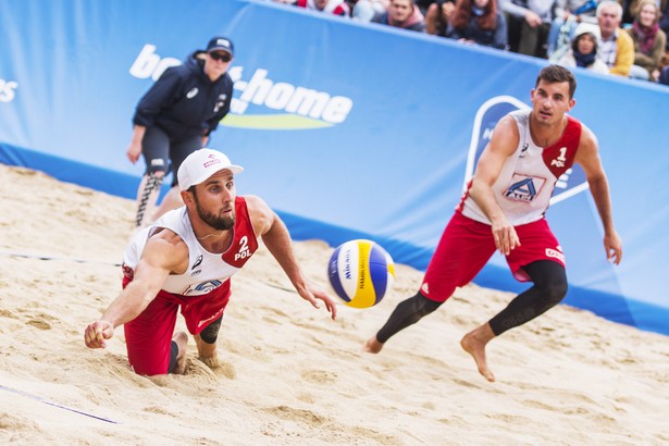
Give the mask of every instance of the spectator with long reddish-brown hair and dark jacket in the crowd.
<path id="1" fill-rule="evenodd" d="M 458 0 L 446 37 L 464 44 L 507 48 L 507 25 L 496 0 Z"/>

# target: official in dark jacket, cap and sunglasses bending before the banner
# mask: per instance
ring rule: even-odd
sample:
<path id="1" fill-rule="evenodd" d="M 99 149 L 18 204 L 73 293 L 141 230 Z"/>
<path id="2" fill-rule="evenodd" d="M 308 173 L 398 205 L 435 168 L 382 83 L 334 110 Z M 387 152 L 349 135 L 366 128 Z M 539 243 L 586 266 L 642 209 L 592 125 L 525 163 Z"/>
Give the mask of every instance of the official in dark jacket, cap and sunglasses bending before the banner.
<path id="1" fill-rule="evenodd" d="M 143 154 L 147 166 L 137 190 L 136 227 L 183 205 L 176 171 L 188 154 L 207 145 L 230 111 L 233 80 L 227 70 L 233 57 L 232 40 L 214 37 L 206 50 L 194 51 L 183 65 L 165 70 L 139 100 L 126 152 L 133 164 Z M 172 188 L 153 212 L 169 169 Z"/>

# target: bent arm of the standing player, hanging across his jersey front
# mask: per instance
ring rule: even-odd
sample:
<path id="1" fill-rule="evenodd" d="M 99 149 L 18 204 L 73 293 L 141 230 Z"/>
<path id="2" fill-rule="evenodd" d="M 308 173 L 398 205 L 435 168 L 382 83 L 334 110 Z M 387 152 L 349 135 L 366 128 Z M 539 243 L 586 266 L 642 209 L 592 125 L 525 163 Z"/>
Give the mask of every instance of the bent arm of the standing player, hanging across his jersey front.
<path id="1" fill-rule="evenodd" d="M 518 147 L 520 135 L 516 121 L 505 116 L 499 121 L 487 147 L 481 153 L 469 195 L 479 205 L 492 223 L 495 246 L 505 256 L 520 246 L 516 230 L 508 222 L 493 194 L 493 184 L 499 176 L 501 168 Z"/>

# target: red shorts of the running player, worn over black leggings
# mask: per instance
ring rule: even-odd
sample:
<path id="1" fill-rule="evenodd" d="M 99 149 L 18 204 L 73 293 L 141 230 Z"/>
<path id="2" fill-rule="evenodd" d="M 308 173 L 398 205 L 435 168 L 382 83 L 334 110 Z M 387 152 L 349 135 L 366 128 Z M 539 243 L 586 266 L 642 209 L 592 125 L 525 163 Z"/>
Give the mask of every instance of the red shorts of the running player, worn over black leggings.
<path id="1" fill-rule="evenodd" d="M 515 226 L 520 246 L 506 256 L 513 277 L 528 282 L 522 267 L 537 260 L 552 260 L 565 267 L 565 255 L 546 219 Z M 491 225 L 457 212 L 448 222 L 421 285 L 429 299 L 443 302 L 456 287 L 470 283 L 495 253 Z"/>

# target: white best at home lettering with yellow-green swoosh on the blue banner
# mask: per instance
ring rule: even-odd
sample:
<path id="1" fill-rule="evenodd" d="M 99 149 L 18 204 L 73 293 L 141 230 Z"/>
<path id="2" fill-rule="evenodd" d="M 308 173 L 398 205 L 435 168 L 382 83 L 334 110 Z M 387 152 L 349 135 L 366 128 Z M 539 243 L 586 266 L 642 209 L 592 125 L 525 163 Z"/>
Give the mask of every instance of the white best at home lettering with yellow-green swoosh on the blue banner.
<path id="1" fill-rule="evenodd" d="M 157 80 L 170 66 L 181 65 L 175 58 L 161 58 L 156 46 L 146 44 L 129 73 L 134 77 Z M 320 91 L 309 86 L 294 85 L 285 79 L 273 80 L 269 71 L 256 69 L 245 76 L 244 66 L 233 66 L 228 74 L 236 97 L 222 124 L 253 129 L 313 129 L 342 124 L 354 108 L 346 96 Z"/>

